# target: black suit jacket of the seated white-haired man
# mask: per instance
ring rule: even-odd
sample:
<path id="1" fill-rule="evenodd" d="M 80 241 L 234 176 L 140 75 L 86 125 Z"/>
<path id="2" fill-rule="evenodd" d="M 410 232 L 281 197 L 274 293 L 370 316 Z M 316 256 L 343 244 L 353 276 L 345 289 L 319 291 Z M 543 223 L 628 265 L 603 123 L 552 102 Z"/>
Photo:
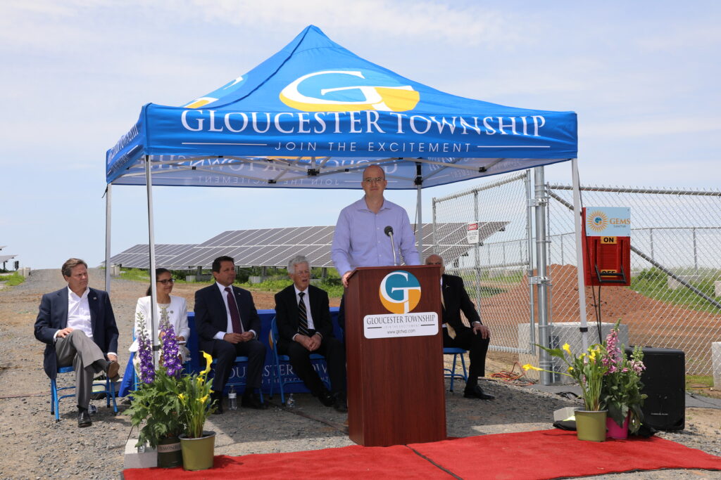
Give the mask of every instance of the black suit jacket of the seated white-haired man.
<path id="1" fill-rule="evenodd" d="M 333 323 L 330 320 L 328 294 L 312 285 L 308 286 L 307 293 L 316 332 L 319 332 L 323 338 L 331 338 Z M 275 322 L 278 325 L 280 338 L 289 342 L 293 341 L 293 335 L 298 333 L 298 302 L 296 302 L 296 289 L 293 285 L 275 294 Z"/>

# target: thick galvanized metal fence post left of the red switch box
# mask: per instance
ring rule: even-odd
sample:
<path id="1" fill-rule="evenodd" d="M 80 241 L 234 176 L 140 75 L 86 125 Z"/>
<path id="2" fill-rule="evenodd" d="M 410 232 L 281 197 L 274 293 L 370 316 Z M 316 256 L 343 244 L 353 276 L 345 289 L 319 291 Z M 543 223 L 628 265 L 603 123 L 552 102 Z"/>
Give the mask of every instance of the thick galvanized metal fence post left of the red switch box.
<path id="1" fill-rule="evenodd" d="M 548 325 L 548 276 L 547 266 L 547 248 L 546 248 L 546 186 L 544 184 L 544 168 L 534 168 L 535 197 L 534 203 L 536 207 L 536 276 L 531 279 L 536 284 L 538 291 L 539 306 L 539 345 L 549 346 L 549 325 Z M 545 350 L 541 350 L 539 356 L 539 367 L 541 371 L 541 382 L 544 385 L 551 384 L 551 371 L 553 365 L 551 358 Z"/>

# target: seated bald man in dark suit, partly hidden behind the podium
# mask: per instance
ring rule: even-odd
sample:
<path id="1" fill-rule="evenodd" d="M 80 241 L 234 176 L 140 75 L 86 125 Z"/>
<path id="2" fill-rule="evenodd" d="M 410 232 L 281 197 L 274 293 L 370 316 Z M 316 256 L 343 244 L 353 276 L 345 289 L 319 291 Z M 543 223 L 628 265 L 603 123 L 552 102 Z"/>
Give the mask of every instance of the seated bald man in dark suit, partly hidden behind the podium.
<path id="1" fill-rule="evenodd" d="M 466 293 L 463 279 L 455 275 L 446 275 L 443 258 L 439 255 L 430 255 L 425 259 L 425 264 L 441 266 L 443 347 L 469 350 L 471 366 L 463 396 L 482 400 L 495 398 L 478 386 L 478 377 L 486 374 L 486 352 L 490 343 L 490 330 L 481 323 L 476 306 Z"/>

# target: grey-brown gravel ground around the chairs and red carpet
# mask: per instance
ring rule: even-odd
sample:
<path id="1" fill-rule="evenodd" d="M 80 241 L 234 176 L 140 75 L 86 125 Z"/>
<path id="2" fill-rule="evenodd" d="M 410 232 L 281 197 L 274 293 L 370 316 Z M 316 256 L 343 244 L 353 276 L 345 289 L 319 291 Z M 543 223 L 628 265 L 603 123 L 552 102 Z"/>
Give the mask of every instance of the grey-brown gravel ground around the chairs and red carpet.
<path id="1" fill-rule="evenodd" d="M 91 269 L 91 286 L 102 288 L 103 272 Z M 123 470 L 125 440 L 131 435 L 128 417 L 113 416 L 105 402 L 99 407 L 93 425 L 79 429 L 71 399 L 61 402 L 61 422 L 50 415 L 50 393 L 43 372 L 43 344 L 32 335 L 40 296 L 64 286 L 57 270 L 33 271 L 19 286 L 1 289 L 0 284 L 0 430 L 4 455 L 0 478 L 83 478 L 117 479 Z M 179 284 L 176 294 L 189 300 L 197 286 Z M 138 296 L 146 286 L 113 279 L 112 303 L 120 329 L 120 363 L 128 358 L 131 322 Z M 258 308 L 272 308 L 272 295 L 254 294 Z M 337 302 L 335 302 L 337 304 Z M 508 355 L 490 354 L 488 371 L 510 370 Z M 59 383 L 71 380 L 61 376 Z M 466 437 L 490 433 L 543 430 L 551 427 L 553 411 L 574 405 L 567 399 L 529 387 L 500 381 L 482 381 L 485 390 L 496 396 L 483 402 L 464 399 L 462 394 L 446 393 L 449 436 Z M 461 391 L 462 392 L 462 391 Z M 288 452 L 352 445 L 347 435 L 346 416 L 322 407 L 307 394 L 296 395 L 293 410 L 280 406 L 276 396 L 265 411 L 239 409 L 213 415 L 206 424 L 214 430 L 216 454 Z M 124 404 L 119 404 L 124 409 Z M 133 436 L 137 435 L 133 431 Z M 721 455 L 721 410 L 686 409 L 686 430 L 664 432 L 663 438 Z M 479 474 L 482 475 L 482 474 Z M 598 478 L 611 478 L 611 475 Z M 715 471 L 651 471 L 614 475 L 614 479 L 721 479 Z"/>

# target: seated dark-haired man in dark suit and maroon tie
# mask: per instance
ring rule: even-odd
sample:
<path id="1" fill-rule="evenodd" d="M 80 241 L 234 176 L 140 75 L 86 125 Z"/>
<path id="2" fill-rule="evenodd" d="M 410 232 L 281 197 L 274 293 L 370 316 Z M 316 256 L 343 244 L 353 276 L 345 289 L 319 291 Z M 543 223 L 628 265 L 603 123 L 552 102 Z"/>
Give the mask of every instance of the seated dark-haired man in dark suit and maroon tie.
<path id="1" fill-rule="evenodd" d="M 217 360 L 213 378 L 216 413 L 223 413 L 223 389 L 233 371 L 236 356 L 248 357 L 245 391 L 241 405 L 265 409 L 257 390 L 262 381 L 265 345 L 257 340 L 260 317 L 249 291 L 233 286 L 235 263 L 222 256 L 213 261 L 216 283 L 195 292 L 195 323 L 200 350 Z"/>

